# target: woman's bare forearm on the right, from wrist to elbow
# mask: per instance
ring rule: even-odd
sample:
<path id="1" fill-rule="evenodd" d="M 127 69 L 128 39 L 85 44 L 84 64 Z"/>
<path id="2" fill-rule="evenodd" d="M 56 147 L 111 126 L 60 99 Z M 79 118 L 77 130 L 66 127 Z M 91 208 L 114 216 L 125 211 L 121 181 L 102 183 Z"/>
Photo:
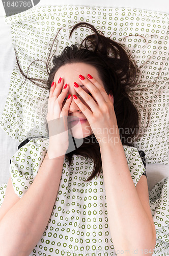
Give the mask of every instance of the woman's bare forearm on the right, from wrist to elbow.
<path id="1" fill-rule="evenodd" d="M 155 226 L 145 211 L 147 204 L 144 207 L 139 199 L 120 138 L 118 141 L 114 145 L 100 144 L 112 241 L 118 255 L 125 251 L 130 255 L 152 255 L 148 252 L 155 248 Z"/>

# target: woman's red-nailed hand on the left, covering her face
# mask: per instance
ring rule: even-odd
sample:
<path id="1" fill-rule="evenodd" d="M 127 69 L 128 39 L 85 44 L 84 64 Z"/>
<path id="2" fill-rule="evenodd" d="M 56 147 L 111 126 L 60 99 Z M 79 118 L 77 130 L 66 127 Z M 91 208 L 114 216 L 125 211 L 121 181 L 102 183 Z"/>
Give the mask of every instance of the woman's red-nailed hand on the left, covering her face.
<path id="1" fill-rule="evenodd" d="M 65 86 L 64 86 L 65 87 Z M 49 159 L 60 157 L 66 154 L 69 147 L 68 135 L 68 112 L 72 97 L 66 99 L 69 86 L 63 88 L 63 79 L 60 83 L 55 83 L 50 89 L 48 99 L 47 123 L 49 130 Z M 64 104 L 65 102 L 65 104 Z"/>

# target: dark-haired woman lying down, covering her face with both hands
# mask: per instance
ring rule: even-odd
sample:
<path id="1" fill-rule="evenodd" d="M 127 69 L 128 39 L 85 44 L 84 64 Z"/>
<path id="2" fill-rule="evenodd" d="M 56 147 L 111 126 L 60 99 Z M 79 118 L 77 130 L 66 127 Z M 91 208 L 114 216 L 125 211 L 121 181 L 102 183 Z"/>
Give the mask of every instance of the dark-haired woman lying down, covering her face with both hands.
<path id="1" fill-rule="evenodd" d="M 94 31 L 85 46 L 53 57 L 49 138 L 31 139 L 11 159 L 0 255 L 153 254 L 145 166 L 133 146 L 139 115 L 128 96 L 137 68 L 92 25 L 71 34 L 80 26 Z M 70 138 L 83 142 L 74 149 Z"/>

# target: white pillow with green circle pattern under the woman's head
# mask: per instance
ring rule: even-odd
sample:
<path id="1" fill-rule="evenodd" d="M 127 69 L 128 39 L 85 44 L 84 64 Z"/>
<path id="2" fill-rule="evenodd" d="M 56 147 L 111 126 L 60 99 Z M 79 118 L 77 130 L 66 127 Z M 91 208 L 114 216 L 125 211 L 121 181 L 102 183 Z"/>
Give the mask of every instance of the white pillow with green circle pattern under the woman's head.
<path id="1" fill-rule="evenodd" d="M 60 54 L 66 46 L 81 42 L 93 33 L 88 28 L 78 28 L 69 39 L 72 26 L 78 22 L 94 25 L 105 36 L 127 47 L 142 73 L 137 89 L 145 89 L 129 94 L 139 105 L 142 117 L 143 136 L 134 146 L 145 152 L 147 163 L 163 164 L 168 163 L 168 20 L 168 14 L 154 11 L 73 5 L 40 6 L 6 18 L 25 74 L 35 60 L 27 73 L 29 77 L 47 80 L 46 61 L 60 29 L 50 56 Z M 49 67 L 52 67 L 52 58 Z M 44 88 L 28 79 L 25 81 L 16 63 L 0 125 L 18 142 L 25 138 L 48 137 L 45 123 L 49 91 L 45 83 L 41 84 Z"/>

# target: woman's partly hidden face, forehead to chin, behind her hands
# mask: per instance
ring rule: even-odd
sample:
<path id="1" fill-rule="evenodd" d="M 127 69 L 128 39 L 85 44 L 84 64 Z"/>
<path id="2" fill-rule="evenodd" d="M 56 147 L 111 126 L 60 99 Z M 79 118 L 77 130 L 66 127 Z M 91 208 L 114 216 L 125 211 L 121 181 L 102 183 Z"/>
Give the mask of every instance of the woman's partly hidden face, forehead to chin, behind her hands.
<path id="1" fill-rule="evenodd" d="M 55 73 L 55 76 L 54 76 L 54 82 L 56 84 L 58 84 L 58 80 L 61 77 L 64 81 L 63 87 L 65 86 L 65 83 L 67 83 L 69 85 L 69 91 L 68 91 L 68 94 L 66 95 L 66 98 L 68 97 L 69 94 L 71 94 L 72 97 L 71 97 L 71 103 L 70 103 L 69 112 L 68 112 L 68 115 L 69 115 L 68 130 L 69 130 L 70 135 L 72 135 L 74 138 L 78 138 L 78 139 L 85 138 L 85 137 L 93 134 L 88 120 L 79 121 L 79 122 L 71 121 L 74 117 L 80 118 L 80 119 L 81 118 L 87 119 L 86 116 L 81 112 L 79 107 L 74 102 L 73 94 L 77 95 L 77 97 L 79 97 L 79 99 L 82 101 L 82 103 L 85 104 L 88 107 L 88 109 L 92 112 L 89 105 L 85 102 L 85 100 L 83 100 L 77 94 L 77 92 L 74 89 L 74 82 L 77 82 L 79 84 L 79 86 L 81 86 L 81 88 L 84 91 L 86 91 L 87 93 L 90 94 L 89 90 L 85 86 L 83 86 L 83 84 L 81 83 L 81 80 L 79 79 L 79 75 L 83 75 L 85 78 L 87 78 L 88 74 L 92 75 L 103 86 L 103 83 L 98 75 L 96 68 L 91 65 L 88 65 L 86 63 L 79 62 L 79 63 L 66 64 L 65 66 L 62 66 Z M 94 98 L 94 97 L 92 96 L 92 98 Z M 65 103 L 65 101 L 63 102 L 63 105 L 64 105 L 64 103 Z M 70 129 L 71 129 L 72 134 L 70 133 Z"/>

